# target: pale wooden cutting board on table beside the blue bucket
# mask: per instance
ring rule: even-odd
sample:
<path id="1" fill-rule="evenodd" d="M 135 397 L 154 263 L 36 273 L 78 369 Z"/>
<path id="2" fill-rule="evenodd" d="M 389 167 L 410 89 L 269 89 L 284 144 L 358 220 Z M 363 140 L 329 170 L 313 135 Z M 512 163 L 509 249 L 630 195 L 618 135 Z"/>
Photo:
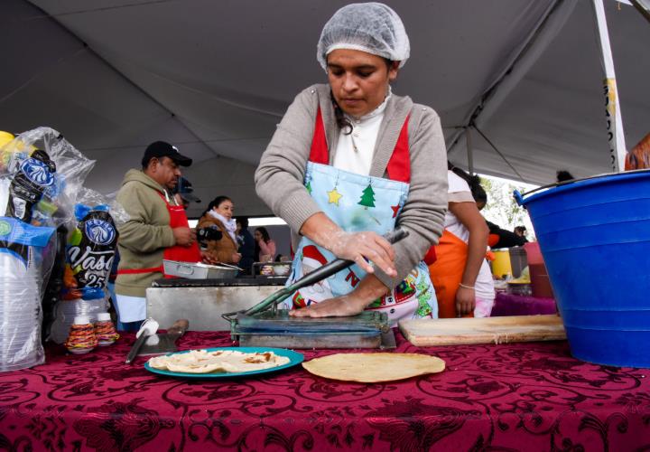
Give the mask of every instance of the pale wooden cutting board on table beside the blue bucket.
<path id="1" fill-rule="evenodd" d="M 401 320 L 399 328 L 413 345 L 510 344 L 566 339 L 558 315 Z"/>

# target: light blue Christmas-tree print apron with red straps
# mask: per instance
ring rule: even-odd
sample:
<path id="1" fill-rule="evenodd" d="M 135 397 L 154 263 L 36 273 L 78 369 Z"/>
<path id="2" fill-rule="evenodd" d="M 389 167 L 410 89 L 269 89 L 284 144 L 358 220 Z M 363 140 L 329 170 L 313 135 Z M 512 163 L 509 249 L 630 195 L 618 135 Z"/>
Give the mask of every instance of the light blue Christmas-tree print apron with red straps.
<path id="1" fill-rule="evenodd" d="M 304 184 L 322 212 L 343 231 L 374 231 L 383 235 L 395 229 L 411 178 L 407 128 L 408 118 L 386 166 L 389 179 L 354 174 L 328 165 L 330 157 L 319 108 Z M 302 237 L 287 286 L 334 259 L 329 250 Z M 285 307 L 300 308 L 348 294 L 365 276 L 366 272 L 354 264 L 320 283 L 299 289 L 285 300 Z M 429 268 L 421 261 L 404 281 L 366 309 L 385 312 L 393 324 L 402 318 L 437 317 L 438 305 Z"/>

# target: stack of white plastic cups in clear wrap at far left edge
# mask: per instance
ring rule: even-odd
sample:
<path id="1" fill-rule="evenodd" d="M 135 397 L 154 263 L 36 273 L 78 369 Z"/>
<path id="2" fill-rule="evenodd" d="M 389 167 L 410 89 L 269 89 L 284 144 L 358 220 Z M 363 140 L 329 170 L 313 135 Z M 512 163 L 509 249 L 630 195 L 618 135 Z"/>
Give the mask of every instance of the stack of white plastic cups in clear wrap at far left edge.
<path id="1" fill-rule="evenodd" d="M 6 252 L 0 252 L 0 268 L 0 372 L 42 364 L 40 269 L 25 268 Z"/>

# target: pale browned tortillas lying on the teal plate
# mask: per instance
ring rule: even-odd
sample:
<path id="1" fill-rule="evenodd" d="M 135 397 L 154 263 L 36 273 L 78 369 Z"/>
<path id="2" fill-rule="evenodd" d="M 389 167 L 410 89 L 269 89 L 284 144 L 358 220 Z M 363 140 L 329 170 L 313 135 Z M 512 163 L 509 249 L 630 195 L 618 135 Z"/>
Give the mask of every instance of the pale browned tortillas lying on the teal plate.
<path id="1" fill-rule="evenodd" d="M 289 363 L 286 356 L 273 352 L 243 353 L 234 350 L 191 350 L 157 356 L 149 360 L 154 369 L 181 373 L 252 372 Z"/>

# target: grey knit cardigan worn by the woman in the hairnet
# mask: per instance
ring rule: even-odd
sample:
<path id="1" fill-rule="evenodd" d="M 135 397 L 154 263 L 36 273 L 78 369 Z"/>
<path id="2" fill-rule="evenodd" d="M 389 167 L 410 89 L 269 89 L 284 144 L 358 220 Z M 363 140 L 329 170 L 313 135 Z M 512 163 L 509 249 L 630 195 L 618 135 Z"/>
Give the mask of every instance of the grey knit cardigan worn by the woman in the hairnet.
<path id="1" fill-rule="evenodd" d="M 255 172 L 257 195 L 295 232 L 320 212 L 303 185 L 319 105 L 332 164 L 339 127 L 330 86 L 313 85 L 293 100 Z M 390 278 L 376 268 L 376 277 L 390 288 L 399 284 L 438 242 L 447 211 L 447 152 L 440 118 L 432 108 L 414 104 L 408 97 L 391 96 L 379 128 L 370 175 L 387 177 L 386 165 L 408 115 L 411 185 L 397 224 L 410 235 L 394 245 L 397 277 Z"/>

